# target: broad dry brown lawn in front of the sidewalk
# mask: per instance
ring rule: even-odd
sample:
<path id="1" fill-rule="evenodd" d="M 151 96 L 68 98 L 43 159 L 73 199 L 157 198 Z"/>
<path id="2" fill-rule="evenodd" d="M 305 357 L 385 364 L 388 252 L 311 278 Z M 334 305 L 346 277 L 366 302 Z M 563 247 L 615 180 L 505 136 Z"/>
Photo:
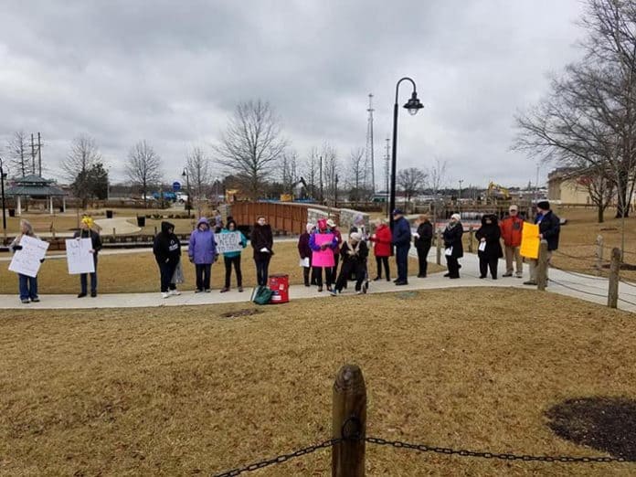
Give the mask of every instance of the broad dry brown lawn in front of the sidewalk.
<path id="1" fill-rule="evenodd" d="M 471 312 L 461 296 L 471 293 Z M 323 440 L 362 367 L 368 434 L 488 451 L 599 454 L 557 438 L 567 398 L 636 396 L 633 315 L 534 291 L 264 307 L 19 311 L 0 319 L 0 473 L 186 475 Z M 633 475 L 636 464 L 483 461 L 367 446 L 367 475 Z M 329 451 L 259 475 L 328 475 Z"/>

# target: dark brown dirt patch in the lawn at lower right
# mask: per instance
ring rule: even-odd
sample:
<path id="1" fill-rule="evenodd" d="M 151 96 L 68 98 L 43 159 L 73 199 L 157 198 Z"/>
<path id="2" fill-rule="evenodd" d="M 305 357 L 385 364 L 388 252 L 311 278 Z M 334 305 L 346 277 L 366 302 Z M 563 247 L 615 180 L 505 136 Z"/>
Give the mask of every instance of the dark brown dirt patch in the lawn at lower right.
<path id="1" fill-rule="evenodd" d="M 557 436 L 636 460 L 636 401 L 627 398 L 568 399 L 546 412 Z"/>

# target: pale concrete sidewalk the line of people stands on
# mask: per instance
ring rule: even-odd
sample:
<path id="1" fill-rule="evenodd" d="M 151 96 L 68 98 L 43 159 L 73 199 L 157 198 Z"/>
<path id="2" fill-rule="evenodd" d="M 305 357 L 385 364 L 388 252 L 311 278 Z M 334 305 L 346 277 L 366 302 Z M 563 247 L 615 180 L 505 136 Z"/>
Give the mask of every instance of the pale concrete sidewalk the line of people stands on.
<path id="1" fill-rule="evenodd" d="M 535 287 L 524 285 L 525 279 L 514 277 L 500 278 L 493 281 L 490 278 L 479 278 L 479 260 L 476 255 L 467 254 L 461 259 L 461 279 L 450 280 L 443 276 L 443 272 L 429 275 L 426 279 L 409 277 L 408 285 L 396 286 L 393 282 L 371 281 L 369 293 L 381 292 L 409 292 L 418 290 L 439 290 L 460 287 L 505 287 L 511 289 L 523 288 L 533 290 Z M 370 270 L 374 270 L 374 267 Z M 392 269 L 395 270 L 394 264 Z M 499 270 L 505 270 L 504 261 L 499 265 Z M 270 270 L 272 273 L 280 270 Z M 370 273 L 371 276 L 374 273 Z M 527 269 L 525 270 L 527 277 Z M 343 295 L 354 294 L 353 283 L 349 283 L 349 288 Z M 172 296 L 162 299 L 159 292 L 151 293 L 118 293 L 101 294 L 95 298 L 76 298 L 76 295 L 40 295 L 41 302 L 22 304 L 19 302 L 17 294 L 0 295 L 0 309 L 81 309 L 81 308 L 141 308 L 159 306 L 189 306 L 189 305 L 210 305 L 216 303 L 249 302 L 252 289 L 246 288 L 245 292 L 239 293 L 232 290 L 227 293 L 220 293 L 213 290 L 210 293 L 182 292 L 180 296 Z M 550 270 L 550 282 L 547 292 L 572 296 L 587 302 L 607 304 L 608 280 L 601 277 L 581 275 L 561 270 Z M 620 310 L 636 313 L 636 285 L 620 283 L 619 291 Z M 326 290 L 318 292 L 316 287 L 304 287 L 303 285 L 292 285 L 290 287 L 290 299 L 302 300 L 307 298 L 325 298 L 338 300 L 332 297 Z"/>

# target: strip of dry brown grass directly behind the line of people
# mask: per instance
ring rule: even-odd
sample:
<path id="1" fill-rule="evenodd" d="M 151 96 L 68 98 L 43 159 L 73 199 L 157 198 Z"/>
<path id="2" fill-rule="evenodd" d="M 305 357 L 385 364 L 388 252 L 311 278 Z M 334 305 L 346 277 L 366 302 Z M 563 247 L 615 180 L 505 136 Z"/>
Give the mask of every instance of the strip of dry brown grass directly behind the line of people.
<path id="1" fill-rule="evenodd" d="M 270 262 L 270 274 L 287 273 L 290 283 L 302 283 L 302 269 L 298 266 L 298 249 L 296 242 L 274 243 L 275 254 Z M 181 290 L 196 288 L 195 266 L 187 261 L 187 253 L 183 252 L 182 260 L 185 283 Z M 0 266 L 0 293 L 17 292 L 16 274 L 7 270 L 8 262 Z M 411 258 L 409 270 L 417 273 L 418 260 Z M 0 264 L 1 265 L 1 264 Z M 374 259 L 369 260 L 370 273 L 376 270 Z M 442 270 L 437 265 L 429 265 L 431 273 Z M 252 260 L 252 249 L 248 245 L 241 256 L 241 270 L 243 271 L 243 286 L 251 287 L 256 284 L 256 268 Z M 373 270 L 373 271 L 371 271 Z M 395 262 L 391 263 L 391 271 L 396 272 Z M 374 275 L 372 275 L 374 276 Z M 212 266 L 212 288 L 220 289 L 225 282 L 225 266 L 222 257 Z M 232 271 L 232 287 L 236 287 L 236 275 Z M 66 260 L 47 260 L 42 265 L 37 276 L 37 286 L 40 293 L 76 293 L 79 292 L 80 278 L 69 275 Z M 131 253 L 125 255 L 101 255 L 98 264 L 98 291 L 101 293 L 123 292 L 158 292 L 159 269 L 152 252 Z"/>

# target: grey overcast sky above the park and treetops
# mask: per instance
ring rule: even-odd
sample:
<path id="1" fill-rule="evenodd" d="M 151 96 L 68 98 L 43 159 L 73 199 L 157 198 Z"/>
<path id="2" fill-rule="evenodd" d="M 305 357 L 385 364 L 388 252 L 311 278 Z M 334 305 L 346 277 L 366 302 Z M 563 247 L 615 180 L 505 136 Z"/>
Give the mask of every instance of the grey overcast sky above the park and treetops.
<path id="1" fill-rule="evenodd" d="M 447 160 L 450 185 L 535 182 L 510 151 L 514 112 L 580 56 L 578 0 L 58 0 L 0 4 L 0 146 L 41 132 L 45 176 L 88 133 L 115 181 L 145 139 L 179 178 L 193 144 L 216 143 L 238 101 L 270 101 L 301 158 L 364 147 L 373 93 L 376 164 L 396 82 L 398 169 Z M 400 87 L 400 103 L 410 96 Z M 545 177 L 547 167 L 542 166 Z M 345 171 L 343 172 L 345 174 Z M 383 167 L 376 165 L 377 182 Z"/>

